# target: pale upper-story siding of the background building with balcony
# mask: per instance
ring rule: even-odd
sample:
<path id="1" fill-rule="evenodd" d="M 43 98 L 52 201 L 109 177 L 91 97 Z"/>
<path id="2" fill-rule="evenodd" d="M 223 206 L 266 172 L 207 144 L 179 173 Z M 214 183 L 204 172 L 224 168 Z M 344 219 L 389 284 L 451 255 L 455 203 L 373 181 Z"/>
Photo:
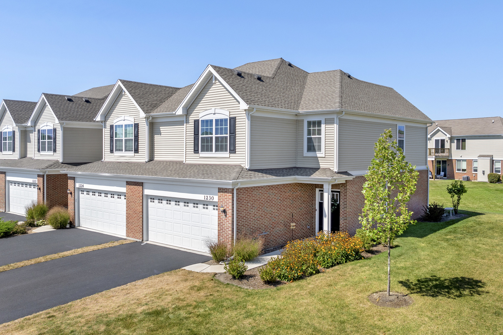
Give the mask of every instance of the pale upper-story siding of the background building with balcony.
<path id="1" fill-rule="evenodd" d="M 456 137 L 452 137 L 451 142 L 453 159 L 477 159 L 478 155 L 492 155 L 494 159 L 503 159 L 503 136 L 466 137 L 466 150 L 456 150 Z"/>

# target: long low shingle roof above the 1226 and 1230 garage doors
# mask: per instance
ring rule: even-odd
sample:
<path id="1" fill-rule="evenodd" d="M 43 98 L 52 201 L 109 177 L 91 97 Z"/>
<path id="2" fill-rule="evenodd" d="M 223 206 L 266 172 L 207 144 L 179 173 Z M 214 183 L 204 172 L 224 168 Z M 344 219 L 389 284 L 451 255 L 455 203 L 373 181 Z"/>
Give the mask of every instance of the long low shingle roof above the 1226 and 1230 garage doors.
<path id="1" fill-rule="evenodd" d="M 94 162 L 69 169 L 70 172 L 108 173 L 128 176 L 154 176 L 204 180 L 248 180 L 288 176 L 305 177 L 345 177 L 348 173 L 338 174 L 330 169 L 286 168 L 246 170 L 241 165 L 223 164 L 184 164 L 180 161 L 144 162 Z"/>

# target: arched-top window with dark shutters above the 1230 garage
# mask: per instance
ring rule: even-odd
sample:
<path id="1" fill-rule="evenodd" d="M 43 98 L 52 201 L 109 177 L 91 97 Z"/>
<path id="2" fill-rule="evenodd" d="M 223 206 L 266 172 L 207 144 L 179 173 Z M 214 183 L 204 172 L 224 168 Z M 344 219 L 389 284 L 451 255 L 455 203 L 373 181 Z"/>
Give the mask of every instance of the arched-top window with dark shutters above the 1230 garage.
<path id="1" fill-rule="evenodd" d="M 236 118 L 224 109 L 211 108 L 194 121 L 194 153 L 200 156 L 229 157 L 236 153 Z"/>

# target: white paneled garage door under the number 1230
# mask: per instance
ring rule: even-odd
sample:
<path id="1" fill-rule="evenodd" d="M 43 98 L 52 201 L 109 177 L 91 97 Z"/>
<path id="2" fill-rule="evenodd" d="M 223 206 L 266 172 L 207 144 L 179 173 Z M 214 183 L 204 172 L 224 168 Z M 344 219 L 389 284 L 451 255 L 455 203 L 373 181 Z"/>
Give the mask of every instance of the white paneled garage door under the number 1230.
<path id="1" fill-rule="evenodd" d="M 216 202 L 149 196 L 149 241 L 207 252 L 204 241 L 217 237 Z"/>

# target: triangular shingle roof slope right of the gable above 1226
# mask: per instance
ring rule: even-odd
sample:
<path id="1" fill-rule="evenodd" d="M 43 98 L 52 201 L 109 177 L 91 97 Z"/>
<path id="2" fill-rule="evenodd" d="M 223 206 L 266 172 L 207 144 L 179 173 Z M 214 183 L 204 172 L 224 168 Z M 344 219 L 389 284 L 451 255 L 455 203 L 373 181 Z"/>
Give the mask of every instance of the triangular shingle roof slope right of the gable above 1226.
<path id="1" fill-rule="evenodd" d="M 151 113 L 162 102 L 166 101 L 180 90 L 180 87 L 154 85 L 123 79 L 119 80 L 144 113 Z"/>

